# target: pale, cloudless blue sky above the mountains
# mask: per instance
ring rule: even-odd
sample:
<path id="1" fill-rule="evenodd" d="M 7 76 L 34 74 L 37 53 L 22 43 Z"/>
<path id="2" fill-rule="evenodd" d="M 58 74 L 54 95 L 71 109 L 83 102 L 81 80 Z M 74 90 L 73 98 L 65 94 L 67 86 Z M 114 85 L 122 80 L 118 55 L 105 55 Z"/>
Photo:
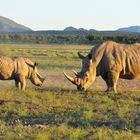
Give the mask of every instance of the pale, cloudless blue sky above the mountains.
<path id="1" fill-rule="evenodd" d="M 140 0 L 0 0 L 0 15 L 33 30 L 140 25 Z"/>

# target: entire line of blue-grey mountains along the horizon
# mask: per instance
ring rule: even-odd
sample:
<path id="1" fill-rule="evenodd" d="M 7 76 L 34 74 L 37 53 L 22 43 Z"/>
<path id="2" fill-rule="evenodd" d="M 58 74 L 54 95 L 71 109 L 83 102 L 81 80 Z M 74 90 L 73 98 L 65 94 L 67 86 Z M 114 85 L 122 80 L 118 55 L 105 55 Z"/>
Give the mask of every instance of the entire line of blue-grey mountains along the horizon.
<path id="1" fill-rule="evenodd" d="M 18 24 L 15 21 L 8 19 L 6 17 L 0 16 L 0 33 L 20 33 L 20 32 L 30 32 L 32 31 L 30 28 Z M 34 32 L 34 31 L 33 31 Z M 43 30 L 43 31 L 37 31 L 38 33 L 48 33 L 48 34 L 59 34 L 60 32 L 62 34 L 91 34 L 91 33 L 99 33 L 102 32 L 103 34 L 108 32 L 123 32 L 123 33 L 140 33 L 140 26 L 130 26 L 130 27 L 124 27 L 119 28 L 115 31 L 98 31 L 95 29 L 84 29 L 84 28 L 75 28 L 72 26 L 66 27 L 64 30 Z"/>

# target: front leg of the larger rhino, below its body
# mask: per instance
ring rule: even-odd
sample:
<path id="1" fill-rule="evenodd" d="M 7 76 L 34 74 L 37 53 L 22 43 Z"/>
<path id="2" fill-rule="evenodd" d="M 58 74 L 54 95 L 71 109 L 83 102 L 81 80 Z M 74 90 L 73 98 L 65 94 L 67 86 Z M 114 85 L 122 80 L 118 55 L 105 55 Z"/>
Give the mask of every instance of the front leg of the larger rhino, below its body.
<path id="1" fill-rule="evenodd" d="M 119 79 L 119 72 L 108 72 L 106 83 L 107 83 L 107 92 L 115 92 L 117 93 L 117 83 Z"/>

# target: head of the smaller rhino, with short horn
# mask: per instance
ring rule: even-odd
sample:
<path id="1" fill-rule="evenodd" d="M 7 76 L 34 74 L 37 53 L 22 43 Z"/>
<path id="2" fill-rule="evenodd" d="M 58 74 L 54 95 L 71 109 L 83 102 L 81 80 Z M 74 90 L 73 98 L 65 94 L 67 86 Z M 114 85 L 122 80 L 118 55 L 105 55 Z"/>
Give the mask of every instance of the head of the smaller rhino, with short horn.
<path id="1" fill-rule="evenodd" d="M 30 80 L 31 82 L 36 86 L 42 86 L 43 82 L 45 81 L 45 78 L 43 78 L 37 70 L 37 63 L 34 63 L 34 66 L 32 68 L 31 74 L 30 74 Z"/>

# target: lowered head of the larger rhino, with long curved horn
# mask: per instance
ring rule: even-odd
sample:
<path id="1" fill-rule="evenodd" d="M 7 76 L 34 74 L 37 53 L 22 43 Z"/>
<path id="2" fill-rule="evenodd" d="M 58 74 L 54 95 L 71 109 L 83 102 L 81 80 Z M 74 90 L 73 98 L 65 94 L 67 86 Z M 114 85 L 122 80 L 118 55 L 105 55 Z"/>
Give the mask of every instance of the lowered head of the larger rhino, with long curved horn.
<path id="1" fill-rule="evenodd" d="M 86 90 L 96 78 L 96 67 L 92 62 L 92 55 L 88 54 L 86 57 L 78 53 L 82 59 L 81 72 L 74 71 L 76 77 L 72 78 L 64 72 L 64 76 L 74 85 L 77 86 L 77 90 Z"/>

